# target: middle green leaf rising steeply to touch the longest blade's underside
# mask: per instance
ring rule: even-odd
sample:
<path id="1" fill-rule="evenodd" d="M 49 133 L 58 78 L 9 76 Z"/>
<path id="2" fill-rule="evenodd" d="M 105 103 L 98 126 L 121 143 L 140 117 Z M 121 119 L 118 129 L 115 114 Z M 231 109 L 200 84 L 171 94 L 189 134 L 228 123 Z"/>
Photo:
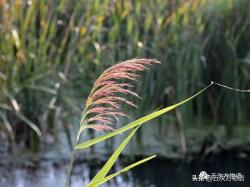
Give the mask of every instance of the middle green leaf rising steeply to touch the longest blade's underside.
<path id="1" fill-rule="evenodd" d="M 92 179 L 92 181 L 90 182 L 93 183 L 95 181 L 98 181 L 100 179 L 103 179 L 107 173 L 109 172 L 109 170 L 111 169 L 111 167 L 114 165 L 115 161 L 117 160 L 117 158 L 119 157 L 119 155 L 121 154 L 122 150 L 125 148 L 125 146 L 128 144 L 128 142 L 130 141 L 130 139 L 133 137 L 133 135 L 135 134 L 135 132 L 139 129 L 140 125 L 137 126 L 129 135 L 128 137 L 123 140 L 123 142 L 119 145 L 119 147 L 115 150 L 115 152 L 111 155 L 111 157 L 109 158 L 109 160 L 106 162 L 106 164 L 102 167 L 102 169 L 96 174 L 96 176 Z"/>

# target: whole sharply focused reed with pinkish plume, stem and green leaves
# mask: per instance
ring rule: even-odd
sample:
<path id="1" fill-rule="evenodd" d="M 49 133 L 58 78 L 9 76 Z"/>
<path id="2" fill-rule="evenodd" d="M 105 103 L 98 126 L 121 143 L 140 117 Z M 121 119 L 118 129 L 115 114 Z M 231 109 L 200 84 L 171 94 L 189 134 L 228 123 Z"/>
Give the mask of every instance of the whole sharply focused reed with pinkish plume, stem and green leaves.
<path id="1" fill-rule="evenodd" d="M 100 171 L 95 175 L 95 177 L 87 184 L 87 187 L 96 187 L 99 186 L 110 179 L 116 177 L 117 175 L 132 169 L 133 167 L 142 164 L 146 161 L 149 161 L 155 157 L 155 155 L 147 157 L 141 161 L 138 161 L 126 168 L 108 175 L 108 172 L 114 165 L 115 161 L 118 159 L 119 155 L 121 154 L 122 150 L 126 147 L 129 143 L 131 138 L 134 136 L 136 131 L 142 126 L 145 122 L 148 122 L 170 110 L 175 109 L 178 106 L 183 105 L 184 103 L 192 100 L 194 97 L 205 91 L 213 82 L 208 85 L 206 88 L 198 92 L 197 94 L 191 96 L 190 98 L 177 103 L 175 105 L 166 107 L 159 111 L 153 112 L 147 116 L 144 116 L 140 119 L 137 119 L 120 129 L 113 129 L 110 127 L 112 124 L 112 118 L 117 118 L 118 116 L 123 116 L 124 112 L 120 111 L 121 103 L 126 103 L 128 105 L 136 106 L 134 103 L 130 102 L 127 99 L 127 96 L 116 96 L 117 94 L 131 94 L 133 96 L 139 97 L 136 93 L 131 90 L 128 90 L 126 87 L 131 87 L 131 84 L 128 83 L 119 83 L 121 79 L 129 79 L 129 80 L 136 80 L 138 75 L 138 71 L 143 71 L 146 69 L 147 66 L 160 63 L 157 60 L 152 59 L 131 59 L 116 65 L 111 66 L 107 70 L 104 71 L 100 75 L 100 77 L 94 83 L 92 91 L 86 101 L 85 109 L 82 113 L 82 119 L 80 121 L 79 130 L 76 136 L 76 144 L 74 147 L 72 159 L 69 164 L 68 168 L 68 176 L 65 183 L 65 187 L 69 186 L 70 183 L 70 175 L 71 170 L 73 167 L 74 159 L 76 156 L 77 150 L 88 148 L 96 143 L 103 142 L 106 139 L 109 139 L 115 135 L 118 135 L 124 131 L 128 131 L 133 129 L 133 131 L 127 135 L 127 137 L 121 142 L 121 144 L 115 149 L 114 153 L 109 157 L 106 164 L 100 169 Z M 91 117 L 88 115 L 92 114 Z M 80 135 L 86 128 L 90 128 L 96 131 L 111 131 L 103 136 L 88 140 L 83 143 L 79 143 Z"/>

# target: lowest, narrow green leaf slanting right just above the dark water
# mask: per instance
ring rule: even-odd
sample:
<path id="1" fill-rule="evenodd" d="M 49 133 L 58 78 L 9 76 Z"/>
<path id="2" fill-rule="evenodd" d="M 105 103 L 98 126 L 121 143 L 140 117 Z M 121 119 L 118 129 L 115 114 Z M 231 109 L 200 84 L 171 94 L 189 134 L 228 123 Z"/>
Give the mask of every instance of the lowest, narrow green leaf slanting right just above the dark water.
<path id="1" fill-rule="evenodd" d="M 130 169 L 132 169 L 132 168 L 134 168 L 134 167 L 136 167 L 136 166 L 138 166 L 138 165 L 140 165 L 140 164 L 143 164 L 144 162 L 147 162 L 147 161 L 149 161 L 149 160 L 151 160 L 151 159 L 153 159 L 153 158 L 155 158 L 155 157 L 156 157 L 156 155 L 153 155 L 153 156 L 144 158 L 144 159 L 142 159 L 142 160 L 140 160 L 140 161 L 138 161 L 138 162 L 135 162 L 135 163 L 133 163 L 133 164 L 131 164 L 131 165 L 129 165 L 129 166 L 123 168 L 123 169 L 120 170 L 120 171 L 117 171 L 117 172 L 115 172 L 115 173 L 113 173 L 113 174 L 111 174 L 111 175 L 108 175 L 107 177 L 105 177 L 105 178 L 103 178 L 103 179 L 100 179 L 100 180 L 98 180 L 98 181 L 96 181 L 96 182 L 93 182 L 93 183 L 91 183 L 91 184 L 88 184 L 86 187 L 96 187 L 96 186 L 99 186 L 99 185 L 101 185 L 101 184 L 103 184 L 103 183 L 109 181 L 110 179 L 112 179 L 112 178 L 114 178 L 114 177 L 120 175 L 121 173 L 127 172 L 128 170 L 130 170 Z"/>

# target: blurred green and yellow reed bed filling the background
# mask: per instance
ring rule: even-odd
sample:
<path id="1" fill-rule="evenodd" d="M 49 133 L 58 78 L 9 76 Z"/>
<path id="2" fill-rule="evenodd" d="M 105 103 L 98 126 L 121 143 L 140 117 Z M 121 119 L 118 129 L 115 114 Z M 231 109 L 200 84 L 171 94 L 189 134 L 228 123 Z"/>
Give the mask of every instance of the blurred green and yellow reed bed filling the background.
<path id="1" fill-rule="evenodd" d="M 45 134 L 57 138 L 59 126 L 70 140 L 94 80 L 134 57 L 162 64 L 138 82 L 133 117 L 210 81 L 250 88 L 249 31 L 249 0 L 0 0 L 1 128 L 33 148 Z M 222 125 L 230 137 L 249 125 L 249 103 L 249 94 L 214 87 L 155 129 L 164 135 L 176 124 L 185 151 L 187 129 Z"/>

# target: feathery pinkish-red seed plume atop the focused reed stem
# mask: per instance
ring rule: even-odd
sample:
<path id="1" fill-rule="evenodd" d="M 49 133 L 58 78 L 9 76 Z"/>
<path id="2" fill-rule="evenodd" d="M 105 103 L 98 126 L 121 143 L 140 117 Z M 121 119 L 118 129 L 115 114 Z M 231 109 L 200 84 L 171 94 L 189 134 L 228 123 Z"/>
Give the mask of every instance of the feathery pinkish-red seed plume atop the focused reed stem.
<path id="1" fill-rule="evenodd" d="M 137 98 L 135 92 L 129 90 L 133 86 L 129 83 L 120 83 L 120 80 L 135 81 L 140 77 L 137 73 L 148 69 L 160 62 L 155 59 L 131 59 L 115 64 L 105 70 L 94 83 L 83 110 L 81 125 L 96 131 L 112 131 L 110 125 L 119 116 L 127 116 L 121 111 L 122 104 L 137 107 L 125 95 Z M 119 96 L 118 96 L 119 95 Z"/>

